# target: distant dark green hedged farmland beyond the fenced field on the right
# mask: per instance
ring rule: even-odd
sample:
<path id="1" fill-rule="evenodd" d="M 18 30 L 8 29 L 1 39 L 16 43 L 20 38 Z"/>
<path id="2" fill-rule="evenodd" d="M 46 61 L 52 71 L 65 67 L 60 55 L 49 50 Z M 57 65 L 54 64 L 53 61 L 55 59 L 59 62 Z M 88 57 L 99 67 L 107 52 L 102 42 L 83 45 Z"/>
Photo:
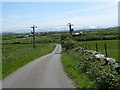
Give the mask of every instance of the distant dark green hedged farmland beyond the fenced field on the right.
<path id="1" fill-rule="evenodd" d="M 116 40 L 120 39 L 118 29 L 82 31 L 84 36 L 74 37 L 76 41 Z"/>

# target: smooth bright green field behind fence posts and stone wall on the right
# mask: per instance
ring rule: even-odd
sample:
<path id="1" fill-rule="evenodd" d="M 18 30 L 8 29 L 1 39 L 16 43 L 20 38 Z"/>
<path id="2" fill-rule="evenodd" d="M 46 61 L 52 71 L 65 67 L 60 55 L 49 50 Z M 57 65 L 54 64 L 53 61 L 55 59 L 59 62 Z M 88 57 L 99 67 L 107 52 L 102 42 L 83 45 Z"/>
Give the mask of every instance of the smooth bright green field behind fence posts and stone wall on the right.
<path id="1" fill-rule="evenodd" d="M 108 57 L 115 58 L 120 61 L 118 50 L 118 40 L 99 40 L 99 41 L 81 41 L 79 44 L 87 44 L 90 46 L 91 50 L 96 50 L 95 42 L 98 44 L 98 51 L 105 54 L 104 43 L 107 45 Z"/>

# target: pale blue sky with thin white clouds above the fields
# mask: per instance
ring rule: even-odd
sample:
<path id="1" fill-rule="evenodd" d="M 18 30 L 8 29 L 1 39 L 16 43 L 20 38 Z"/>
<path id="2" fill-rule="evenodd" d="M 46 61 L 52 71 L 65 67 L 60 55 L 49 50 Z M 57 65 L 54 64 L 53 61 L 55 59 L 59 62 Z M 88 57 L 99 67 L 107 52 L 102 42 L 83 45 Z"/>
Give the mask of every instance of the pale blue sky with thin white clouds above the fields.
<path id="1" fill-rule="evenodd" d="M 118 2 L 2 2 L 2 31 L 110 27 L 118 25 Z"/>

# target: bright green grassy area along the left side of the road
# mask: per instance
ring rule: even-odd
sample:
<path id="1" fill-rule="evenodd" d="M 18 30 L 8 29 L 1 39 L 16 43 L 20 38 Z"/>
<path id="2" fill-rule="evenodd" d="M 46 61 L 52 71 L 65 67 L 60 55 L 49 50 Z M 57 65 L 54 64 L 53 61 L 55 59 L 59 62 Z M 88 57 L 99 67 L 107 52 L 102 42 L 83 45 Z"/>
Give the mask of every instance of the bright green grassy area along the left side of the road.
<path id="1" fill-rule="evenodd" d="M 54 44 L 6 44 L 2 46 L 2 78 L 28 62 L 50 53 Z"/>

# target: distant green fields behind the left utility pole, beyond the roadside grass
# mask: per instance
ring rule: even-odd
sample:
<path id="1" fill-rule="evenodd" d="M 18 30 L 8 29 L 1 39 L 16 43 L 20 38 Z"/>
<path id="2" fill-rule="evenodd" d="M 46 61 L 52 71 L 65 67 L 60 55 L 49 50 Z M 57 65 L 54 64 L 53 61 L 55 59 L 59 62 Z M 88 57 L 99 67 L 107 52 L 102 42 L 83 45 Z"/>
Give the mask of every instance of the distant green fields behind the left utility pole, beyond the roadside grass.
<path id="1" fill-rule="evenodd" d="M 17 34 L 15 35 L 3 35 L 2 37 L 2 44 L 9 44 L 9 43 L 32 43 L 33 37 L 27 38 L 16 38 Z M 50 34 L 45 36 L 35 36 L 36 43 L 49 43 L 50 41 L 59 42 L 60 34 Z"/>

